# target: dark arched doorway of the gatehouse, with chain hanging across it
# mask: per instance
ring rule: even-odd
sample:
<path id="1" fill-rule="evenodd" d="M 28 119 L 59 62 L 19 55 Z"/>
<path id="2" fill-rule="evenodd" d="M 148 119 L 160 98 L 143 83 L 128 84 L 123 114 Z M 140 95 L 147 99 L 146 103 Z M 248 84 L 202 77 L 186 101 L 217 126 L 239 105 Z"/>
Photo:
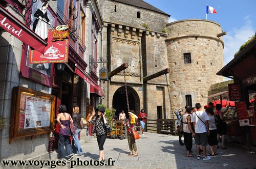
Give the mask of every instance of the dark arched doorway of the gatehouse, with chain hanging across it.
<path id="1" fill-rule="evenodd" d="M 127 86 L 127 94 L 128 94 L 128 99 L 129 99 L 129 107 L 130 110 L 133 109 L 135 111 L 135 115 L 138 116 L 139 111 L 140 111 L 140 99 L 137 94 L 137 92 L 132 88 Z M 126 117 L 127 117 L 127 101 L 126 101 L 126 93 L 125 93 L 125 87 L 119 88 L 114 96 L 113 96 L 113 108 L 116 109 L 116 116 L 119 117 L 119 113 L 121 110 L 124 110 Z"/>

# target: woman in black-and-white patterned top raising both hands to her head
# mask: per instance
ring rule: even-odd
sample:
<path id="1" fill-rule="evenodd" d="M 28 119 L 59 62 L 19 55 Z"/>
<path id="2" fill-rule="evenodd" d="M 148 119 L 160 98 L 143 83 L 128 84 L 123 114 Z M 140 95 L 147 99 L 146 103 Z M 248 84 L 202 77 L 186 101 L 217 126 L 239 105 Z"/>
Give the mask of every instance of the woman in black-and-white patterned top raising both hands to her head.
<path id="1" fill-rule="evenodd" d="M 95 112 L 97 115 L 95 116 Z M 109 124 L 108 119 L 105 117 L 105 109 L 103 107 L 97 108 L 95 112 L 92 112 L 92 116 L 88 120 L 88 123 L 93 123 L 92 133 L 96 133 L 97 142 L 99 146 L 99 161 L 105 161 L 104 157 L 104 143 L 106 140 L 106 130 L 105 127 Z"/>

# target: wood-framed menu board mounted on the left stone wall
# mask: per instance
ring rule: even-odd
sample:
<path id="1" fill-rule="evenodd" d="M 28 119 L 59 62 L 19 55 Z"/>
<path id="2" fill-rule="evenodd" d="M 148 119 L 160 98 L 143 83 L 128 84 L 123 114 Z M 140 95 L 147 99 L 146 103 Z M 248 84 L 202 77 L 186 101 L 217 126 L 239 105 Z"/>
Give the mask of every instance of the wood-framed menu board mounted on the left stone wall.
<path id="1" fill-rule="evenodd" d="M 54 130 L 55 96 L 23 87 L 13 88 L 10 144 L 15 137 Z"/>

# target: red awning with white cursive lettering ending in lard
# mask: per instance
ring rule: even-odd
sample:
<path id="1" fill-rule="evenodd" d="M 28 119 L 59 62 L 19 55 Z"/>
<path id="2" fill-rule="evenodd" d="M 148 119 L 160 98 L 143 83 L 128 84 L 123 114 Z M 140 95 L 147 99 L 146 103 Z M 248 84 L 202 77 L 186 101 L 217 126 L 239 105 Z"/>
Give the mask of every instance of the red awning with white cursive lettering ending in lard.
<path id="1" fill-rule="evenodd" d="M 1 5 L 0 27 L 39 52 L 44 53 L 47 42 Z"/>

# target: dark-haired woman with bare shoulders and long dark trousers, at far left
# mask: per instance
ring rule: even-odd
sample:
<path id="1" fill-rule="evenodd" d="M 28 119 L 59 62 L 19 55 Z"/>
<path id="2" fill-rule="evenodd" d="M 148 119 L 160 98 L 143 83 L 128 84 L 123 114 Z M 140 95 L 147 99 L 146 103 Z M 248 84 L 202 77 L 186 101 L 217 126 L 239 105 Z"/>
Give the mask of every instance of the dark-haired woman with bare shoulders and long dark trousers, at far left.
<path id="1" fill-rule="evenodd" d="M 73 159 L 72 149 L 70 142 L 70 123 L 73 123 L 72 118 L 67 113 L 67 107 L 65 104 L 61 104 L 59 106 L 59 114 L 57 115 L 57 122 L 60 126 L 59 129 L 59 157 L 60 160 L 65 160 L 65 150 L 64 145 L 66 147 L 67 153 L 68 153 L 68 160 Z"/>

